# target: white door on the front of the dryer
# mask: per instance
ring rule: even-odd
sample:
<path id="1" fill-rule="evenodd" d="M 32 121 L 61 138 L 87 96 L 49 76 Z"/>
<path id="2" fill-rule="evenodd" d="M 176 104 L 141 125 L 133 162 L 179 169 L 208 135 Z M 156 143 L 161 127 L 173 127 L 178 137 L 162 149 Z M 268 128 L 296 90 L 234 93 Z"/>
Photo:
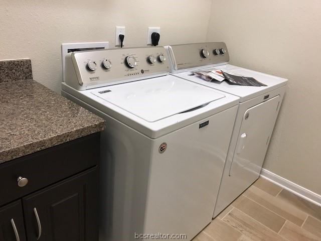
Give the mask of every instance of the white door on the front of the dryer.
<path id="1" fill-rule="evenodd" d="M 252 183 L 261 171 L 267 147 L 277 117 L 280 96 L 247 109 L 230 168 L 230 176 Z"/>

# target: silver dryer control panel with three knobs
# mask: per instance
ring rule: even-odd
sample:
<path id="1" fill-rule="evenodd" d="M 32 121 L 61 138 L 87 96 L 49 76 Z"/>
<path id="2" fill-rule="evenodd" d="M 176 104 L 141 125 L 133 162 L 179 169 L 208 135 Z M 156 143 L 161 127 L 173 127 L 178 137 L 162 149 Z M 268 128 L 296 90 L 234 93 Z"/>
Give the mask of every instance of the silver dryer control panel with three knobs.
<path id="1" fill-rule="evenodd" d="M 172 73 L 229 61 L 229 53 L 223 42 L 179 44 L 165 48 L 170 57 Z"/>

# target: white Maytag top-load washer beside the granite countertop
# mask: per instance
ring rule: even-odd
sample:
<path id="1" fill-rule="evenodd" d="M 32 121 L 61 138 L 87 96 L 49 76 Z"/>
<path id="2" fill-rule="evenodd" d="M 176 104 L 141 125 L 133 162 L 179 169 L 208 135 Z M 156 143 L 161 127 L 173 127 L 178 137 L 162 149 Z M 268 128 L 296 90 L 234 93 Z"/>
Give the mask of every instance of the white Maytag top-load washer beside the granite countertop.
<path id="1" fill-rule="evenodd" d="M 66 69 L 62 94 L 107 123 L 100 240 L 191 240 L 212 220 L 239 97 L 169 75 L 164 47 L 75 52 Z"/>

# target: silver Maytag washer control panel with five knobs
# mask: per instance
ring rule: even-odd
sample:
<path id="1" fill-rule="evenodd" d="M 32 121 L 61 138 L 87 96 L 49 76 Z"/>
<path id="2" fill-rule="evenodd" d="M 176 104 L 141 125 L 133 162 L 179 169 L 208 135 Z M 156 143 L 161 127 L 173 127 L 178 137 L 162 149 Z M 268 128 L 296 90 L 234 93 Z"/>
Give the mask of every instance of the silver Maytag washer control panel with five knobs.
<path id="1" fill-rule="evenodd" d="M 85 90 L 168 74 L 164 47 L 73 52 L 66 56 L 66 84 Z"/>

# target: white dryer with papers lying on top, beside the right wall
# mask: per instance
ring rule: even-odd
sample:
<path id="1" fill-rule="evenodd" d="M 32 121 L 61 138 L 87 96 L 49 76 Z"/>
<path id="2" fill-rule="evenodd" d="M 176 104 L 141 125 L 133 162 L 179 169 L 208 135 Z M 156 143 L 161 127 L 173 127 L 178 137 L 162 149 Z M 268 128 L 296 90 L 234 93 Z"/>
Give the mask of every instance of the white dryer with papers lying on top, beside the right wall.
<path id="1" fill-rule="evenodd" d="M 225 43 L 196 43 L 166 46 L 174 76 L 240 97 L 231 144 L 213 217 L 217 216 L 258 177 L 285 93 L 287 79 L 228 64 Z M 267 86 L 240 86 L 208 82 L 195 70 L 227 70 L 254 77 Z"/>

